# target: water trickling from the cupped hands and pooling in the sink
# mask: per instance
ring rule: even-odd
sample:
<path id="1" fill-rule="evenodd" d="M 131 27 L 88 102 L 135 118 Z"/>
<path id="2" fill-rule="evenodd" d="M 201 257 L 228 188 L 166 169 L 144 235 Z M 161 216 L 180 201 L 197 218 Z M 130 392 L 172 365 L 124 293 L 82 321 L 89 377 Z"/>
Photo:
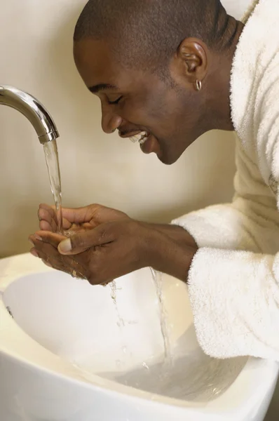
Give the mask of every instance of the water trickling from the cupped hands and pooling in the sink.
<path id="1" fill-rule="evenodd" d="M 158 317 L 163 337 L 163 356 L 143 361 L 132 370 L 123 370 L 128 348 L 123 346 L 123 359 L 116 361 L 116 372 L 97 373 L 100 377 L 113 380 L 122 385 L 144 390 L 151 394 L 168 396 L 184 401 L 205 403 L 216 399 L 231 386 L 247 362 L 247 358 L 218 360 L 206 356 L 202 349 L 196 348 L 189 354 L 188 342 L 196 340 L 193 325 L 175 345 L 170 344 L 170 326 L 168 312 L 163 298 L 163 275 L 151 269 L 152 280 L 158 298 Z M 111 298 L 114 300 L 119 328 L 125 328 L 117 305 L 117 287 L 111 284 Z M 82 364 L 79 368 L 83 368 Z M 90 370 L 90 363 L 85 365 L 85 377 L 96 373 Z"/>

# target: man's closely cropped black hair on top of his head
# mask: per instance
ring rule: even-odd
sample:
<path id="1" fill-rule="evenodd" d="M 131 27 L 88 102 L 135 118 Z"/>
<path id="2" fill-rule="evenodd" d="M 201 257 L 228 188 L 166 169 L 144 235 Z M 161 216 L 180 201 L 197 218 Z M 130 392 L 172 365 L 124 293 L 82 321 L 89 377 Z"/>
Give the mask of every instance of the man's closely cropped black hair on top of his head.
<path id="1" fill-rule="evenodd" d="M 189 37 L 220 48 L 227 18 L 220 0 L 89 0 L 74 41 L 107 40 L 123 64 L 155 69 Z"/>

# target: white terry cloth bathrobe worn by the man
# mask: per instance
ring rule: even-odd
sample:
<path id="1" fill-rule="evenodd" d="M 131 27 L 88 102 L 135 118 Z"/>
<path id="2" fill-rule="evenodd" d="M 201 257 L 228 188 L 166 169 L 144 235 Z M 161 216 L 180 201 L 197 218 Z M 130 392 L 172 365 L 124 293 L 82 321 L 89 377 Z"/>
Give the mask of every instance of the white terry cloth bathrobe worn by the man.
<path id="1" fill-rule="evenodd" d="M 252 2 L 243 22 L 231 72 L 236 194 L 172 223 L 199 246 L 189 297 L 204 352 L 279 361 L 279 1 Z"/>

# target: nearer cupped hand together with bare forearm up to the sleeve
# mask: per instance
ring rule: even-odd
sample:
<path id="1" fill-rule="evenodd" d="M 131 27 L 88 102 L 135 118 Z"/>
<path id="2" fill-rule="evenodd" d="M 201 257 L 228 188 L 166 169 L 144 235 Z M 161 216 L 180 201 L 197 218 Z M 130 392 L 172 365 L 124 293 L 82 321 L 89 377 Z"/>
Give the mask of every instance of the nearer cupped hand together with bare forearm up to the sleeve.
<path id="1" fill-rule="evenodd" d="M 34 243 L 32 253 L 51 267 L 86 278 L 92 284 L 108 283 L 147 266 L 186 281 L 198 250 L 188 232 L 177 226 L 137 222 L 102 206 L 100 215 L 102 209 L 104 215 L 108 212 L 107 218 L 114 215 L 116 220 L 102 223 L 105 216 L 95 218 L 95 228 L 78 232 L 70 239 L 38 232 L 30 236 Z"/>

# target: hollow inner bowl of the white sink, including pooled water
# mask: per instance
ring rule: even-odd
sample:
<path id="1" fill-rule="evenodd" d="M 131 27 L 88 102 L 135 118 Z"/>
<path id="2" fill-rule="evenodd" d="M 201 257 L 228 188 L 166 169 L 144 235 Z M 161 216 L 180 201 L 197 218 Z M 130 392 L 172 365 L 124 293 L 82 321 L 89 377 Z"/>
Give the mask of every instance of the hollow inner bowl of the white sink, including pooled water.
<path id="1" fill-rule="evenodd" d="M 150 269 L 123 276 L 112 289 L 111 294 L 111 286 L 93 287 L 62 272 L 41 272 L 13 282 L 3 298 L 29 336 L 79 366 L 83 377 L 93 382 L 92 375 L 97 374 L 151 394 L 205 406 L 243 370 L 247 358 L 211 359 L 198 347 L 182 282 L 163 276 L 171 363 L 165 362 Z"/>

